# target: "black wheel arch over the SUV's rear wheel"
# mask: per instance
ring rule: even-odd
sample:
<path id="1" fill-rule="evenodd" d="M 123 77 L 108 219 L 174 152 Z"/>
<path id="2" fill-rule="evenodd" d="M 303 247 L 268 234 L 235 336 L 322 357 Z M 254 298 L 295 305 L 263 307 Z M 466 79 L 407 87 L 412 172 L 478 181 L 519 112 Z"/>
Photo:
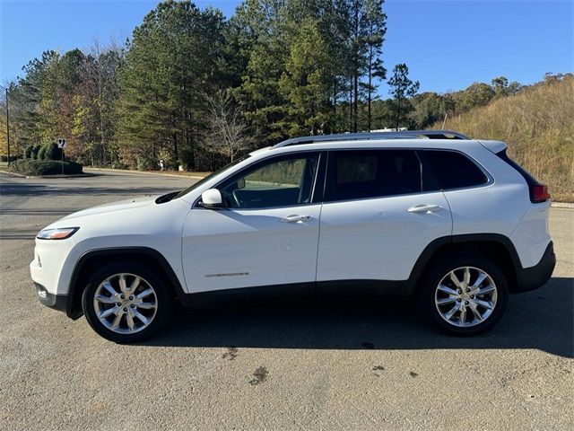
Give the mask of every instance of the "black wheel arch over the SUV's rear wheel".
<path id="1" fill-rule="evenodd" d="M 432 262 L 462 252 L 474 252 L 491 259 L 507 277 L 510 292 L 517 291 L 522 265 L 514 244 L 500 233 L 471 233 L 439 238 L 427 245 L 404 282 L 404 293 L 413 295 L 417 291 L 419 281 Z"/>

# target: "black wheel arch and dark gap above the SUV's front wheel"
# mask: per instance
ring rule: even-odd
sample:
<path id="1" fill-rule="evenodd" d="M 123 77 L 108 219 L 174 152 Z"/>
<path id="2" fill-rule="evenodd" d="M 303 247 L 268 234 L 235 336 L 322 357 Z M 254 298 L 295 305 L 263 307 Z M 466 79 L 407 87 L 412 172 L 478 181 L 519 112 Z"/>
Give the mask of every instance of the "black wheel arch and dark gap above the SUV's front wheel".
<path id="1" fill-rule="evenodd" d="M 70 279 L 68 301 L 65 313 L 72 319 L 82 317 L 82 293 L 88 281 L 91 269 L 97 266 L 117 262 L 118 259 L 132 260 L 138 263 L 145 263 L 151 268 L 161 272 L 167 280 L 166 285 L 170 287 L 170 294 L 178 300 L 185 308 L 191 308 L 193 303 L 186 295 L 183 287 L 179 283 L 173 268 L 161 252 L 149 247 L 121 247 L 98 249 L 85 252 L 74 266 L 74 271 Z"/>

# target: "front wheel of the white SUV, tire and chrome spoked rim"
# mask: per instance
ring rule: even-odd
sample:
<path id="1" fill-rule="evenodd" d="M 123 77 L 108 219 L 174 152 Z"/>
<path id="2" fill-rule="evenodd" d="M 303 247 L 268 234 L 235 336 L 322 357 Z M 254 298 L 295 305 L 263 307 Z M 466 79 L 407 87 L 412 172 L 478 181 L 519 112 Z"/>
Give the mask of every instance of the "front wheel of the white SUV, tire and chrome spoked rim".
<path id="1" fill-rule="evenodd" d="M 135 262 L 113 263 L 91 275 L 82 308 L 92 330 L 124 344 L 161 330 L 170 319 L 173 300 L 168 286 L 150 268 Z"/>

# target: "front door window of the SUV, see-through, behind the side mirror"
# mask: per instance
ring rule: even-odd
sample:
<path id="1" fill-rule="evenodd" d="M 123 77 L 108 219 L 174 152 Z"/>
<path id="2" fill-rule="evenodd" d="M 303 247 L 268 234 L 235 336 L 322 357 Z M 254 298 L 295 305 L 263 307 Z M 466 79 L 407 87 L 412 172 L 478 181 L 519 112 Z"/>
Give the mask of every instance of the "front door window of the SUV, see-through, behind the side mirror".
<path id="1" fill-rule="evenodd" d="M 227 207 L 291 207 L 311 202 L 318 154 L 274 158 L 257 163 L 222 183 Z"/>

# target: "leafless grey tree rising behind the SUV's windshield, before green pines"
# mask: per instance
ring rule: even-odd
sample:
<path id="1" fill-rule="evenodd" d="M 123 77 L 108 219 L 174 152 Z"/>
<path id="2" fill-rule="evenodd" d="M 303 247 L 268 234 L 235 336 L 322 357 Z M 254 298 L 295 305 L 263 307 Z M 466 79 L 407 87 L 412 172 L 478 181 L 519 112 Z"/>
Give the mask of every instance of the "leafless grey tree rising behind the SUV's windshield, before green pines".
<path id="1" fill-rule="evenodd" d="M 241 118 L 241 108 L 229 90 L 204 94 L 204 101 L 209 125 L 206 142 L 229 154 L 233 162 L 238 152 L 251 144 L 248 126 Z"/>

